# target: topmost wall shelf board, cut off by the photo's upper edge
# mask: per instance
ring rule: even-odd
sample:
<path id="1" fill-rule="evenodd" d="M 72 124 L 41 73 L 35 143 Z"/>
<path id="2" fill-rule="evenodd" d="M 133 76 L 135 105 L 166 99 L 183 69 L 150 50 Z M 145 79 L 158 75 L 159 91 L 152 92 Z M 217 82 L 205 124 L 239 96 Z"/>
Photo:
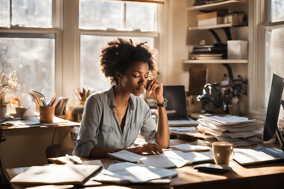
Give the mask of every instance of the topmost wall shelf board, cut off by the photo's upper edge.
<path id="1" fill-rule="evenodd" d="M 190 10 L 190 11 L 202 11 L 202 10 L 216 11 L 217 9 L 218 10 L 222 10 L 222 9 L 229 10 L 236 5 L 240 5 L 240 4 L 248 3 L 248 2 L 249 1 L 247 0 L 228 0 L 228 1 L 222 1 L 219 3 L 210 3 L 206 5 L 197 5 L 197 6 L 187 7 L 186 10 Z"/>

